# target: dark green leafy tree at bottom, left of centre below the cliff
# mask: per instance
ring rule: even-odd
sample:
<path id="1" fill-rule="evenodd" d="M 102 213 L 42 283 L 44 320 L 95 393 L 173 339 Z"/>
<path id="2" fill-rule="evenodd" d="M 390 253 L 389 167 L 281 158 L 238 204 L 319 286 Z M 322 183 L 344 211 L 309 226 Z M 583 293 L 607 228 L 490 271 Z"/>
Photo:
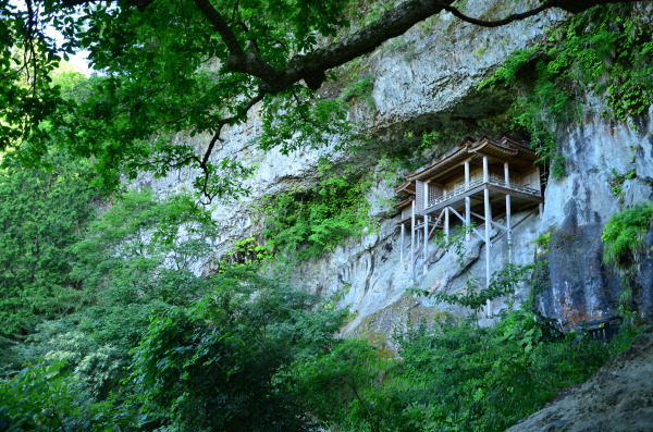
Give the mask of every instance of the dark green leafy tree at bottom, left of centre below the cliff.
<path id="1" fill-rule="evenodd" d="M 310 424 L 279 372 L 332 338 L 343 313 L 251 273 L 213 276 L 189 309 L 152 318 L 131 380 L 150 421 L 184 431 L 294 431 Z"/>

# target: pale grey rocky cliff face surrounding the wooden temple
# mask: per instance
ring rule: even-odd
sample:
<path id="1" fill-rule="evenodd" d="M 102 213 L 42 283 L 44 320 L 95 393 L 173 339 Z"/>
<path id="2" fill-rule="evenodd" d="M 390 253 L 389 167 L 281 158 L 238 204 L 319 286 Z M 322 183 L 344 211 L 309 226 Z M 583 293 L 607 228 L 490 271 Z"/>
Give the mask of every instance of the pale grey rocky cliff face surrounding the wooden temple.
<path id="1" fill-rule="evenodd" d="M 469 0 L 467 4 L 483 17 L 526 9 L 525 4 L 515 7 L 508 0 Z M 541 40 L 546 27 L 565 17 L 550 11 L 497 29 L 463 24 L 448 14 L 429 20 L 362 60 L 359 67 L 373 79 L 371 97 L 375 110 L 372 112 L 360 103 L 354 107 L 350 116 L 365 122 L 369 133 L 386 148 L 403 146 L 405 132 L 441 131 L 438 148 L 427 150 L 432 155 L 446 150 L 466 135 L 478 138 L 506 132 L 506 123 L 501 120 L 506 109 L 505 95 L 480 96 L 476 85 L 507 55 Z M 637 120 L 636 131 L 627 125 L 612 125 L 600 115 L 600 101 L 595 106 L 588 107 L 581 125 L 559 131 L 557 138 L 568 161 L 567 175 L 549 180 L 543 213 L 529 217 L 515 230 L 513 238 L 513 262 L 527 264 L 542 258 L 543 250 L 534 243 L 537 236 L 552 232 L 549 271 L 539 306 L 547 317 L 567 328 L 615 313 L 623 287 L 619 275 L 601 262 L 601 231 L 613 212 L 650 199 L 653 190 L 653 107 L 646 119 Z M 246 197 L 211 207 L 220 230 L 214 258 L 260 230 L 252 207 L 261 197 L 296 186 L 312 186 L 318 161 L 326 157 L 335 165 L 355 161 L 361 171 L 372 173 L 374 185 L 367 197 L 371 202 L 369 218 L 379 225 L 318 260 L 299 263 L 292 273 L 292 282 L 323 296 L 340 295 L 338 305 L 356 312 L 346 333 L 389 334 L 407 320 L 432 317 L 434 311 L 461 312 L 428 297 L 415 296 L 408 288 L 456 292 L 466 289 L 468 281 L 484 284 L 484 244 L 479 240 L 465 243 L 457 254 L 435 255 L 429 271 L 426 274 L 419 271 L 417 277 L 406 262 L 401 262 L 396 218 L 386 203 L 394 195 L 394 185 L 384 180 L 387 168 L 379 162 L 374 146 L 353 156 L 334 150 L 337 145 L 334 138 L 318 150 L 283 156 L 278 151 L 256 150 L 251 144 L 259 133 L 260 121 L 254 114 L 248 123 L 229 129 L 222 148 L 214 153 L 215 160 L 236 156 L 257 166 L 251 177 L 243 180 L 250 190 Z M 202 138 L 206 137 L 198 137 L 198 146 Z M 624 182 L 624 196 L 614 196 L 612 170 L 623 175 L 631 168 L 637 176 Z M 164 180 L 143 176 L 139 181 L 168 193 L 190 187 L 192 174 L 178 172 Z M 514 218 L 520 220 L 526 215 L 525 212 Z M 498 238 L 498 234 L 495 231 L 493 236 Z M 492 271 L 502 269 L 506 257 L 506 240 L 500 239 L 492 248 Z M 209 259 L 204 271 L 211 271 L 211 266 Z M 651 291 L 652 274 L 653 261 L 648 256 L 638 276 L 640 303 L 648 311 L 652 303 L 645 293 Z M 525 292 L 518 293 L 517 300 L 525 296 Z M 507 300 L 493 306 L 495 312 L 508 307 Z"/>

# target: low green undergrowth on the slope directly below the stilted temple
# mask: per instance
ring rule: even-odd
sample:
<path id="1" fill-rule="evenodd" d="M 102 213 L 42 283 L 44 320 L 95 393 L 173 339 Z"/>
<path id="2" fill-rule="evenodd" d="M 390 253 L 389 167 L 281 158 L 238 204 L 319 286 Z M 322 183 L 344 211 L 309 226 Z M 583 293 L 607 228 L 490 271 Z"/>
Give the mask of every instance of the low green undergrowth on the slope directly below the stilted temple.
<path id="1" fill-rule="evenodd" d="M 586 381 L 634 332 L 609 344 L 563 334 L 527 311 L 494 328 L 444 317 L 395 335 L 399 359 L 343 341 L 294 363 L 294 391 L 340 431 L 503 431 Z"/>

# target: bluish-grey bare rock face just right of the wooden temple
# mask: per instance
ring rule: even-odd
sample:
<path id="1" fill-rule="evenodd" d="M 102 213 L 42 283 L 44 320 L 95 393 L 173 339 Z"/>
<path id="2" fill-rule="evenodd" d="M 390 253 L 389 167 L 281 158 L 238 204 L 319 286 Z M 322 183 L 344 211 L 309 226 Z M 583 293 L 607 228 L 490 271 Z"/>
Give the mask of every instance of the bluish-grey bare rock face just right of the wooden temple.
<path id="1" fill-rule="evenodd" d="M 649 178 L 653 173 L 653 107 L 648 121 L 636 129 L 611 125 L 599 113 L 562 133 L 567 173 L 551 178 L 545 193 L 543 230 L 552 230 L 550 289 L 541 297 L 541 309 L 569 329 L 580 322 L 614 316 L 621 275 L 602 262 L 601 233 L 611 214 L 653 198 Z M 634 171 L 636 176 L 623 176 Z M 621 176 L 621 192 L 612 185 Z M 634 277 L 639 309 L 651 316 L 651 249 L 642 257 Z"/>

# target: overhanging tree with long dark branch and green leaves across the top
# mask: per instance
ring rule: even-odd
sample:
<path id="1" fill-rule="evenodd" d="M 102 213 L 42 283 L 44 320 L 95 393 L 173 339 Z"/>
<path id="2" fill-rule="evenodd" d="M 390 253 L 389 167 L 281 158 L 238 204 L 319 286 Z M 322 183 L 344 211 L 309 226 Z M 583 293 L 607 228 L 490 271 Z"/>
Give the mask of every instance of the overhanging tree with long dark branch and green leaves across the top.
<path id="1" fill-rule="evenodd" d="M 409 0 L 350 30 L 346 13 L 354 15 L 356 3 L 348 0 L 27 0 L 22 8 L 2 0 L 0 148 L 34 160 L 56 136 L 93 156 L 111 182 L 118 172 L 164 174 L 192 165 L 202 173 L 196 186 L 212 198 L 227 194 L 242 172 L 235 160 L 210 159 L 225 126 L 245 121 L 259 102 L 269 121 L 285 112 L 294 127 L 344 126 L 342 110 L 309 112 L 307 100 L 328 73 L 428 17 L 451 12 L 473 25 L 500 26 L 551 8 L 576 13 L 626 1 L 546 0 L 486 22 L 466 16 L 452 0 Z M 46 25 L 58 28 L 63 42 L 48 37 Z M 77 49 L 87 49 L 102 72 L 83 102 L 64 97 L 50 78 L 61 58 Z M 210 136 L 206 151 L 172 139 L 182 132 Z M 287 143 L 287 127 L 279 133 L 276 143 Z"/>

